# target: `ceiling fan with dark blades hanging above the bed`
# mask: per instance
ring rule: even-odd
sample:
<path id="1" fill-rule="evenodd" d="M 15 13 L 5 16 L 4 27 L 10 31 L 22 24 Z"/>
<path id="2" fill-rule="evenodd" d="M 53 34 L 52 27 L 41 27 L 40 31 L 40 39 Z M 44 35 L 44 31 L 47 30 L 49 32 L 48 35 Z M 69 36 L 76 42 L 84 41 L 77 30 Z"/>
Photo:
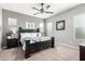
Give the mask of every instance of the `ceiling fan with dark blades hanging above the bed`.
<path id="1" fill-rule="evenodd" d="M 48 5 L 46 5 L 45 8 L 44 8 L 44 3 L 40 3 L 41 4 L 41 9 L 38 9 L 38 8 L 32 8 L 33 10 L 37 10 L 38 11 L 38 13 L 34 13 L 33 15 L 37 15 L 37 14 L 43 14 L 43 13 L 47 13 L 47 14 L 53 14 L 53 12 L 49 12 L 49 11 L 45 11 L 45 9 L 49 9 L 51 8 L 51 5 L 48 4 Z"/>

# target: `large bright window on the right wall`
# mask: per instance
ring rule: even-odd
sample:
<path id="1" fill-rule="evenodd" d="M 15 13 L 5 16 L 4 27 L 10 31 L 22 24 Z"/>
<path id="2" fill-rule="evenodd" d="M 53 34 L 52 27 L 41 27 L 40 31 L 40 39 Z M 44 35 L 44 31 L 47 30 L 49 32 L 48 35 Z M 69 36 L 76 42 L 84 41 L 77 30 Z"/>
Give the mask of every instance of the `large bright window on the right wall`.
<path id="1" fill-rule="evenodd" d="M 74 29 L 76 39 L 85 39 L 85 14 L 74 16 Z"/>

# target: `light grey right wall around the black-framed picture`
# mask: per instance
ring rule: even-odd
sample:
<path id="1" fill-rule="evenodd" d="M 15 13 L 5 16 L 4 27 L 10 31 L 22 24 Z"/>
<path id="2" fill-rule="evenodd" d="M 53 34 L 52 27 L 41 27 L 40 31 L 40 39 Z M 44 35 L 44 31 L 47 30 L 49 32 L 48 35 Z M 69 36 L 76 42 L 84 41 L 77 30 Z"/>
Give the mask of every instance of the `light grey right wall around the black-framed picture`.
<path id="1" fill-rule="evenodd" d="M 53 17 L 46 18 L 46 22 L 53 23 L 52 36 L 55 37 L 56 42 L 77 46 L 84 40 L 75 41 L 74 39 L 74 28 L 73 28 L 73 16 L 76 14 L 85 13 L 85 4 L 81 4 L 62 13 L 56 14 Z M 56 30 L 56 22 L 66 21 L 65 30 Z"/>

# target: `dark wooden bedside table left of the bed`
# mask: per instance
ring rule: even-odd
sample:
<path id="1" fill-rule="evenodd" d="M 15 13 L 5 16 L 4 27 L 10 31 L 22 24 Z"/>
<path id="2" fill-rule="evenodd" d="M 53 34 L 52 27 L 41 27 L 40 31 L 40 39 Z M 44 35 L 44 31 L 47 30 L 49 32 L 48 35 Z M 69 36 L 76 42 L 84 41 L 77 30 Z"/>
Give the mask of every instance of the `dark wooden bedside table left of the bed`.
<path id="1" fill-rule="evenodd" d="M 18 47 L 18 39 L 17 38 L 6 39 L 6 47 L 8 49 Z"/>

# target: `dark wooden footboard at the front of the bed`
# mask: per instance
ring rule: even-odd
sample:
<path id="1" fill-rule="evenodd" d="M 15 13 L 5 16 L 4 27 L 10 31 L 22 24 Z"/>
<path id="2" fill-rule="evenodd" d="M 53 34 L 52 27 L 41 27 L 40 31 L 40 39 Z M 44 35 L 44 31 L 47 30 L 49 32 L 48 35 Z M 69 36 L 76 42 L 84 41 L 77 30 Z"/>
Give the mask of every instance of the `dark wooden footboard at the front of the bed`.
<path id="1" fill-rule="evenodd" d="M 30 57 L 32 52 L 41 51 L 47 48 L 55 48 L 55 38 L 52 37 L 51 40 L 47 41 L 40 41 L 36 43 L 30 43 L 30 40 L 26 40 L 26 50 L 25 50 L 25 57 Z"/>

